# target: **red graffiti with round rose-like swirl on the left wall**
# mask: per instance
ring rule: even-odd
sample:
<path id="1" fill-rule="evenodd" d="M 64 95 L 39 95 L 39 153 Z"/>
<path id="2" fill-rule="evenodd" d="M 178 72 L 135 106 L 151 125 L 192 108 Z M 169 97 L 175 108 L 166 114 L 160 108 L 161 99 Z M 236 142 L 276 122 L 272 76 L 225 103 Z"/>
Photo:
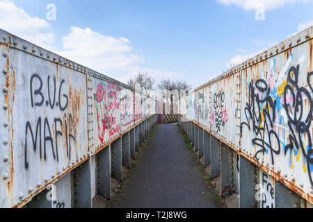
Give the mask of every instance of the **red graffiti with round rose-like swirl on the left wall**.
<path id="1" fill-rule="evenodd" d="M 115 112 L 120 110 L 120 88 L 113 83 L 102 82 L 97 84 L 97 92 L 94 95 L 97 108 L 98 137 L 104 143 L 106 133 L 111 138 L 115 133 L 120 133 L 120 123 Z"/>

